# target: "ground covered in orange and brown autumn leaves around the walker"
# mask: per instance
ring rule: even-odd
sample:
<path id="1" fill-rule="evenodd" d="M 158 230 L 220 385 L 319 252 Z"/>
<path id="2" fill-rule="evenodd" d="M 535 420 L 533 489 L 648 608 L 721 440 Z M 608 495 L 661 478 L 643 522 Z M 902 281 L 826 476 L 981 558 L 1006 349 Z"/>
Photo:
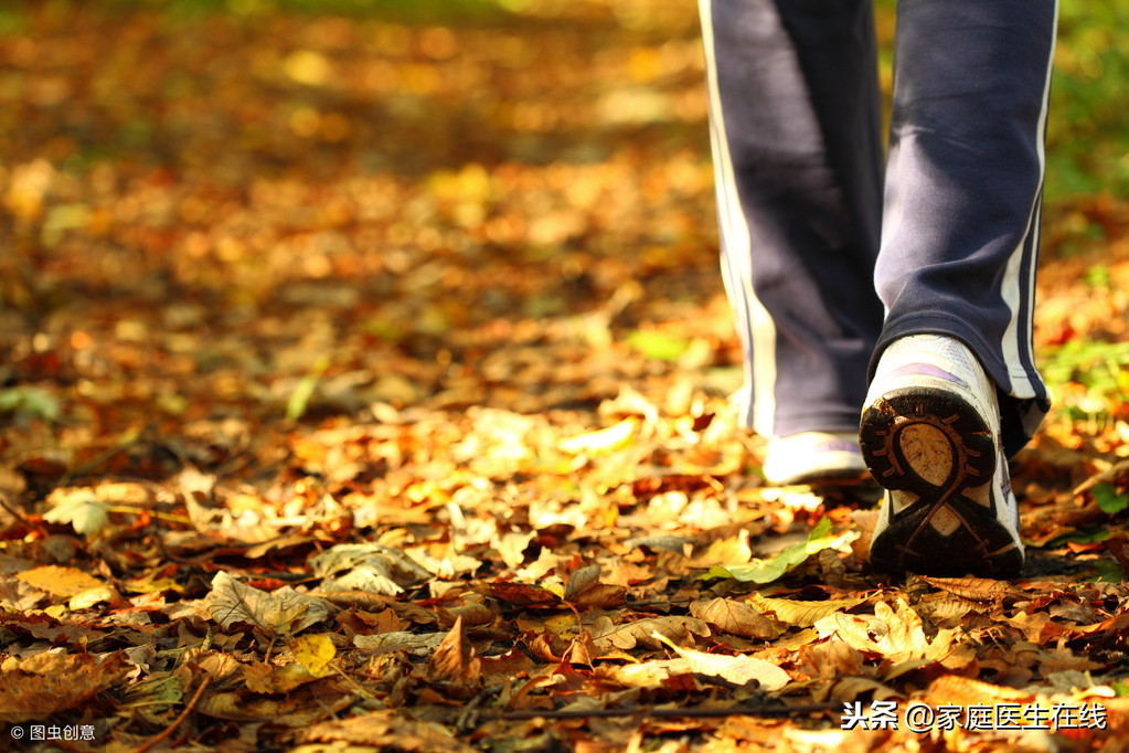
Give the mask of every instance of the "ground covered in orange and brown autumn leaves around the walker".
<path id="1" fill-rule="evenodd" d="M 0 12 L 0 747 L 1123 750 L 1129 204 L 1024 577 L 879 576 L 728 409 L 693 3 L 369 8 Z"/>

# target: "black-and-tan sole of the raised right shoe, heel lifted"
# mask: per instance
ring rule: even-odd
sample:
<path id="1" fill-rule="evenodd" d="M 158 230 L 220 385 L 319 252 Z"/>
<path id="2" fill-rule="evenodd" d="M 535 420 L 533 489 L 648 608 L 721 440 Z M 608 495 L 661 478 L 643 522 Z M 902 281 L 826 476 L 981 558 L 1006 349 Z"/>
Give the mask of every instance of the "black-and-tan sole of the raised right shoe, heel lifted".
<path id="1" fill-rule="evenodd" d="M 997 517 L 992 487 L 987 506 L 966 493 L 995 483 L 996 476 L 996 441 L 975 408 L 946 389 L 892 389 L 864 411 L 859 443 L 875 481 L 917 498 L 901 510 L 882 513 L 890 525 L 870 544 L 875 569 L 937 576 L 1018 573 L 1023 550 Z M 892 494 L 887 504 L 893 506 Z M 933 525 L 938 515 L 955 529 L 938 532 Z"/>

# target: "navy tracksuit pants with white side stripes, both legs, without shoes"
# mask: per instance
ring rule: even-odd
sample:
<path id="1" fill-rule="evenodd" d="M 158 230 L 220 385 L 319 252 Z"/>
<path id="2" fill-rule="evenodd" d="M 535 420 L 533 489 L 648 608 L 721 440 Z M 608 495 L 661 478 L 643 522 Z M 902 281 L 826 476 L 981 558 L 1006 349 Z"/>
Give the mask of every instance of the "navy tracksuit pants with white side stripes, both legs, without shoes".
<path id="1" fill-rule="evenodd" d="M 1048 409 L 1031 321 L 1057 0 L 900 0 L 883 159 L 870 0 L 700 0 L 723 272 L 764 436 L 854 431 L 882 349 L 947 334 L 1014 453 Z"/>

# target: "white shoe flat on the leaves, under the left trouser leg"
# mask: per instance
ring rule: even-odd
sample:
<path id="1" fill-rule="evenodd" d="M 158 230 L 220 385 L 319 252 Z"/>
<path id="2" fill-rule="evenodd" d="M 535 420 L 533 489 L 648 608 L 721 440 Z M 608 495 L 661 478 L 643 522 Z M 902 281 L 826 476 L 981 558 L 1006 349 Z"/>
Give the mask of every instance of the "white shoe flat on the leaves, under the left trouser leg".
<path id="1" fill-rule="evenodd" d="M 764 454 L 764 478 L 779 487 L 837 487 L 866 478 L 858 436 L 848 431 L 804 431 L 772 437 Z"/>

